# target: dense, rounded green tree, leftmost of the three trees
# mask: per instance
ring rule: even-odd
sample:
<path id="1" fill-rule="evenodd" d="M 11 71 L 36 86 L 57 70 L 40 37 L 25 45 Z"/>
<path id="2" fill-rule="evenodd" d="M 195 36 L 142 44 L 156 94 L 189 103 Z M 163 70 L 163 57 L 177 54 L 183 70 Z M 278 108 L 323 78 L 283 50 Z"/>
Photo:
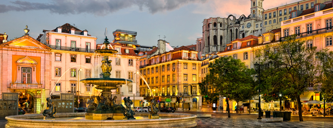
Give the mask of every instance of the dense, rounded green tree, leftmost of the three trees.
<path id="1" fill-rule="evenodd" d="M 244 62 L 231 56 L 215 59 L 209 65 L 209 73 L 199 84 L 202 95 L 226 97 L 226 100 L 236 102 L 247 100 L 256 94 L 254 86 L 253 69 L 245 67 Z M 228 117 L 230 105 L 227 103 Z"/>

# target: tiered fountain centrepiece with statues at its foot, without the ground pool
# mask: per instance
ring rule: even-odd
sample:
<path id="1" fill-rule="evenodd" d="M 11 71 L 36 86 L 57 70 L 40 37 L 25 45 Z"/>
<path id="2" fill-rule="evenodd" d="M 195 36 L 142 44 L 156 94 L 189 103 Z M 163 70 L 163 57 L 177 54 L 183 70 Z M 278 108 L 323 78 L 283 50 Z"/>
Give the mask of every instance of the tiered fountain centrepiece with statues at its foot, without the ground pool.
<path id="1" fill-rule="evenodd" d="M 96 50 L 96 53 L 104 56 L 102 65 L 100 68 L 102 69 L 102 78 L 87 78 L 82 79 L 80 82 L 85 84 L 94 84 L 95 88 L 98 90 L 102 90 L 101 95 L 97 97 L 97 103 L 94 100 L 90 100 L 89 108 L 86 113 L 86 119 L 90 120 L 106 120 L 107 118 L 112 119 L 135 119 L 133 115 L 135 114 L 131 105 L 133 104 L 130 97 L 125 97 L 124 102 L 126 104 L 126 108 L 124 108 L 121 104 L 116 104 L 115 100 L 117 96 L 112 98 L 111 90 L 117 89 L 120 84 L 128 84 L 132 83 L 132 80 L 123 79 L 123 78 L 110 78 L 112 66 L 112 60 L 109 60 L 109 56 L 117 53 L 118 51 L 109 49 L 110 42 L 108 41 L 108 37 L 105 38 L 103 42 L 103 46 Z M 104 47 L 104 49 L 103 49 Z"/>

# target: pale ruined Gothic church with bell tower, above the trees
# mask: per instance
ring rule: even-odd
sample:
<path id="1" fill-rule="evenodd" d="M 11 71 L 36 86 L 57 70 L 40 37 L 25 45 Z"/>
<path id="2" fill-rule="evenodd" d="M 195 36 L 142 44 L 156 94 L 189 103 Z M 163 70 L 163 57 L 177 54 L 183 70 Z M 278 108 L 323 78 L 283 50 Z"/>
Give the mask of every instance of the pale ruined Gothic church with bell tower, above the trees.
<path id="1" fill-rule="evenodd" d="M 265 29 L 262 26 L 263 0 L 251 0 L 251 12 L 248 16 L 236 18 L 215 17 L 203 20 L 202 38 L 197 39 L 199 57 L 217 53 L 226 48 L 226 44 L 248 35 L 260 36 Z"/>

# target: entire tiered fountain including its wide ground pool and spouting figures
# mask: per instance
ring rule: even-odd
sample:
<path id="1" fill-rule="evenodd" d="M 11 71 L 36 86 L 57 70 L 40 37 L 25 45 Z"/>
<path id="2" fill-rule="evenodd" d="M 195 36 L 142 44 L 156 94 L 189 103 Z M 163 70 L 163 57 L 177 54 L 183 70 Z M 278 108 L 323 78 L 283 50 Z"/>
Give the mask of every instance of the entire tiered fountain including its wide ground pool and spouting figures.
<path id="1" fill-rule="evenodd" d="M 108 49 L 110 42 L 105 38 L 103 46 L 96 53 L 103 55 L 102 78 L 87 78 L 80 80 L 85 84 L 94 84 L 96 89 L 102 90 L 95 103 L 91 98 L 87 113 L 56 113 L 51 99 L 48 99 L 48 108 L 43 114 L 28 114 L 7 116 L 6 127 L 195 127 L 196 115 L 180 113 L 159 113 L 155 108 L 156 101 L 151 101 L 150 113 L 134 113 L 131 109 L 133 104 L 130 97 L 124 97 L 124 104 L 116 104 L 117 96 L 112 98 L 112 90 L 117 85 L 133 82 L 122 78 L 110 78 L 112 71 L 109 56 L 117 53 L 116 50 Z M 142 77 L 142 76 L 141 76 Z M 135 116 L 134 116 L 135 115 Z"/>

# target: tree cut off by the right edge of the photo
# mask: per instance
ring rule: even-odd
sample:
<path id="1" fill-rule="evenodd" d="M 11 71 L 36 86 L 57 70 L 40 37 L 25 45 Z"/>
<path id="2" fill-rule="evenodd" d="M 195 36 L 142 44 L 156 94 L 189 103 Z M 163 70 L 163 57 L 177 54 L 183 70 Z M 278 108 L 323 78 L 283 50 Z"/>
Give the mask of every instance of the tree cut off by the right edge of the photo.
<path id="1" fill-rule="evenodd" d="M 327 102 L 333 102 L 333 52 L 328 49 L 317 52 L 317 58 L 320 63 L 317 65 L 321 71 L 318 76 L 321 93 Z"/>

